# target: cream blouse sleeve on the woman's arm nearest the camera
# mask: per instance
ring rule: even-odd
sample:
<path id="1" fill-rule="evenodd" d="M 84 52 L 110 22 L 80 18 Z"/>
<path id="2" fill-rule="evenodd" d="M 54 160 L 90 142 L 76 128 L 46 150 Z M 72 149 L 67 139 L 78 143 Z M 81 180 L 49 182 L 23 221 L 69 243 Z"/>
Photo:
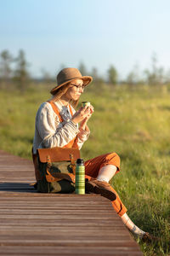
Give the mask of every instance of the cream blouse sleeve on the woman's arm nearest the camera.
<path id="1" fill-rule="evenodd" d="M 40 148 L 64 147 L 79 133 L 77 125 L 71 120 L 60 123 L 59 117 L 47 102 L 37 112 L 36 125 L 42 138 Z"/>

